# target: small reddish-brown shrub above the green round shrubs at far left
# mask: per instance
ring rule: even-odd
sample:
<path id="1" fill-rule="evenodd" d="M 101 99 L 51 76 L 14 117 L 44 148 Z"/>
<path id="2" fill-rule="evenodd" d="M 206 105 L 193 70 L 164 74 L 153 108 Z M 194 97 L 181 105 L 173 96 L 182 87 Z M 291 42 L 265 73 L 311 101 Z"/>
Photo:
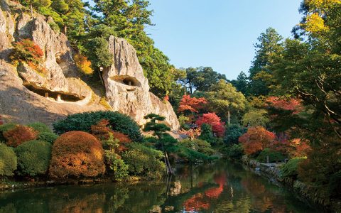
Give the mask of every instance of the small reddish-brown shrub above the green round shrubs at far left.
<path id="1" fill-rule="evenodd" d="M 17 125 L 14 129 L 5 131 L 3 135 L 7 146 L 17 147 L 23 142 L 35 140 L 38 132 L 31 127 Z"/>

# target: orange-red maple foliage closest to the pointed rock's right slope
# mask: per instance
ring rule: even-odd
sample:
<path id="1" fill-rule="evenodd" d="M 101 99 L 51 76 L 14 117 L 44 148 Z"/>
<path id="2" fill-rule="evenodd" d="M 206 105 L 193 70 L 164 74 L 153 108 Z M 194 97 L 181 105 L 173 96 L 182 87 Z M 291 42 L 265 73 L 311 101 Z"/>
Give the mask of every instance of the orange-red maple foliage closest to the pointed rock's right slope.
<path id="1" fill-rule="evenodd" d="M 183 111 L 191 111 L 191 112 L 197 112 L 203 107 L 205 107 L 205 104 L 207 104 L 207 100 L 205 98 L 196 98 L 196 97 L 190 97 L 189 94 L 185 94 L 183 96 L 183 99 L 180 101 L 180 105 L 178 108 L 178 112 Z"/>

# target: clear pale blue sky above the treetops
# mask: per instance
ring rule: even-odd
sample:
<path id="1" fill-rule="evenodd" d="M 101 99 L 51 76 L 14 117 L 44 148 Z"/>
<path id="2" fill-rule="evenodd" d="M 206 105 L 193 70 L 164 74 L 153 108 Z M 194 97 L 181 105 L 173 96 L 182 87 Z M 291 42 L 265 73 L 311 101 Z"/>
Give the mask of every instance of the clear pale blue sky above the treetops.
<path id="1" fill-rule="evenodd" d="M 247 72 L 260 33 L 287 38 L 301 19 L 301 0 L 149 0 L 147 33 L 175 67 L 212 67 L 227 79 Z"/>

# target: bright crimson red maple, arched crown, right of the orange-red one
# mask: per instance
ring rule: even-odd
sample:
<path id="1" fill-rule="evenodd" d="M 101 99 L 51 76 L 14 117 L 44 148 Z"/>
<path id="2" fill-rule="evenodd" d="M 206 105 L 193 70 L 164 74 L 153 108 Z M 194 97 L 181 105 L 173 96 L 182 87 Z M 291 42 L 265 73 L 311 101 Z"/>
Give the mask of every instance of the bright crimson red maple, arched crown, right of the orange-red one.
<path id="1" fill-rule="evenodd" d="M 202 116 L 195 121 L 195 124 L 200 128 L 202 124 L 210 124 L 210 126 L 212 126 L 213 133 L 216 133 L 218 137 L 224 136 L 224 122 L 220 121 L 220 117 L 214 112 L 202 114 Z"/>

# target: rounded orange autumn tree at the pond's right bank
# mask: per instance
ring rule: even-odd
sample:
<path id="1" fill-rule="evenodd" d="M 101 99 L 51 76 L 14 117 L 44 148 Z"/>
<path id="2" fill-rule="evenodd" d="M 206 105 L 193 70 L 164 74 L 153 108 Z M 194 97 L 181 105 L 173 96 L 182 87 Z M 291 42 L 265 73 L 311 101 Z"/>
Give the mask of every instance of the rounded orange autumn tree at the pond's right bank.
<path id="1" fill-rule="evenodd" d="M 274 133 L 267 131 L 262 126 L 255 126 L 250 127 L 247 133 L 239 137 L 238 141 L 242 143 L 245 153 L 251 155 L 271 146 L 275 138 Z"/>

